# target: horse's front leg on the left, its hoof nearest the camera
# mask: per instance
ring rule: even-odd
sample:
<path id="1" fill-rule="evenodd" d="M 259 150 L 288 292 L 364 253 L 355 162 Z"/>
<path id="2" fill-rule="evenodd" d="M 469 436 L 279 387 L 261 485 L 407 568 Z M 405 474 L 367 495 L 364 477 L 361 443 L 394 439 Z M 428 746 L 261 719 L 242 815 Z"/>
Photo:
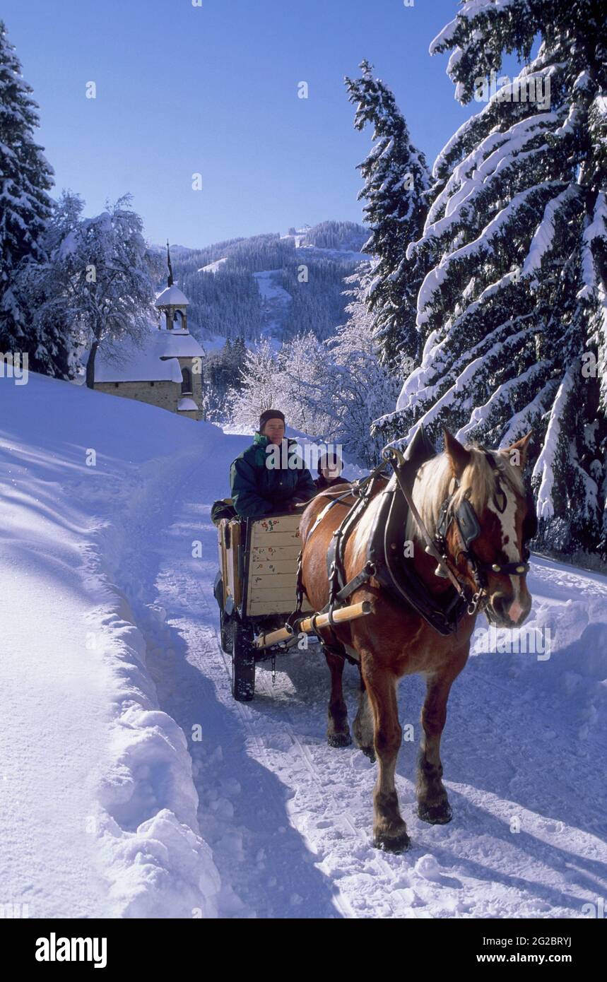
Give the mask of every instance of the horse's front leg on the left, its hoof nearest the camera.
<path id="1" fill-rule="evenodd" d="M 373 846 L 390 852 L 404 852 L 411 846 L 407 826 L 399 810 L 399 799 L 394 784 L 396 761 L 401 748 L 403 730 L 399 723 L 396 701 L 397 678 L 392 672 L 374 667 L 365 671 L 372 656 L 366 662 L 361 657 L 362 678 L 375 721 L 375 753 L 378 758 L 377 782 L 373 790 Z"/>

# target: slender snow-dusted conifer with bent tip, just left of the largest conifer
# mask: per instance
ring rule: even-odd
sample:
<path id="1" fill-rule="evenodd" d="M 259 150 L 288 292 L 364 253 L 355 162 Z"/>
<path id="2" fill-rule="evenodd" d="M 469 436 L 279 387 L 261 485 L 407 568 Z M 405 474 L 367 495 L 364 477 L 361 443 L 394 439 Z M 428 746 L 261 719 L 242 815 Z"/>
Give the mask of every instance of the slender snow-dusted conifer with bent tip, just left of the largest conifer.
<path id="1" fill-rule="evenodd" d="M 421 234 L 427 211 L 429 172 L 415 149 L 392 91 L 373 78 L 373 66 L 360 63 L 362 76 L 346 79 L 350 101 L 357 106 L 355 127 L 373 127 L 373 148 L 359 164 L 366 199 L 363 214 L 370 237 L 363 246 L 373 256 L 367 304 L 382 360 L 395 367 L 405 352 L 417 354 L 415 297 L 421 276 L 416 258 L 406 249 Z"/>

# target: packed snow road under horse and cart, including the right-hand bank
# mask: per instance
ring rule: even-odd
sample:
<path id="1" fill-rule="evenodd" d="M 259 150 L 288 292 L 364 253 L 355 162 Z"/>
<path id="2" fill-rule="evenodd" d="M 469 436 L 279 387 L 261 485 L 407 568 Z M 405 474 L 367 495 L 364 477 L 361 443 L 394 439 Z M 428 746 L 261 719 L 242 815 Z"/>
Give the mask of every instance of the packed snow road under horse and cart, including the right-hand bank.
<path id="1" fill-rule="evenodd" d="M 154 602 L 167 612 L 164 641 L 153 627 L 149 633 L 148 664 L 162 709 L 189 736 L 200 831 L 222 876 L 220 912 L 581 916 L 582 904 L 607 890 L 605 578 L 535 560 L 535 608 L 558 650 L 547 660 L 470 659 L 444 738 L 455 812 L 448 826 L 414 814 L 422 684 L 401 682 L 401 720 L 414 725 L 415 742 L 403 745 L 397 787 L 413 849 L 380 853 L 370 845 L 375 767 L 355 747 L 327 746 L 328 671 L 315 649 L 284 657 L 274 686 L 268 663 L 259 668 L 253 702 L 232 699 L 212 596 L 209 504 L 240 448 L 236 439 L 212 468 L 193 470 L 168 526 L 145 537 L 158 562 Z M 196 539 L 199 559 L 191 557 Z M 579 619 L 591 623 L 582 629 Z M 357 671 L 347 666 L 345 675 L 352 720 Z M 196 724 L 199 741 L 190 736 Z"/>

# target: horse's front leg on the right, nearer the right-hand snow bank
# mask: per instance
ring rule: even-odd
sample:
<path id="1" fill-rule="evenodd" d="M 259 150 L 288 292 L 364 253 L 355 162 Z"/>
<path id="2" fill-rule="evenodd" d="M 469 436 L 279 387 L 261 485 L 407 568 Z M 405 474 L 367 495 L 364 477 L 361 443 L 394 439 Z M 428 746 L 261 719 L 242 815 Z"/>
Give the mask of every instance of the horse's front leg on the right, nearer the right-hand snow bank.
<path id="1" fill-rule="evenodd" d="M 467 657 L 467 656 L 466 656 Z M 453 812 L 443 785 L 440 739 L 447 719 L 447 699 L 451 686 L 466 664 L 456 659 L 448 669 L 428 675 L 426 696 L 421 709 L 422 734 L 417 760 L 417 814 L 431 825 L 451 821 Z"/>

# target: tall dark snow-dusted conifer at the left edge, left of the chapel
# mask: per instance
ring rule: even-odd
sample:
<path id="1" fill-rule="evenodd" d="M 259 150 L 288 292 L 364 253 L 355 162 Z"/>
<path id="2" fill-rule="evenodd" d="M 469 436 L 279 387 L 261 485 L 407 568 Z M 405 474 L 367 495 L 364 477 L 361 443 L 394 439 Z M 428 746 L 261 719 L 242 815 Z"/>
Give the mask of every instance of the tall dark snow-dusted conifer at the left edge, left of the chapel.
<path id="1" fill-rule="evenodd" d="M 44 258 L 40 241 L 52 205 L 53 170 L 34 140 L 38 107 L 31 91 L 0 21 L 0 352 L 27 353 L 30 369 L 61 373 L 65 365 L 45 348 L 44 338 L 30 334 L 17 284 L 25 263 Z"/>

